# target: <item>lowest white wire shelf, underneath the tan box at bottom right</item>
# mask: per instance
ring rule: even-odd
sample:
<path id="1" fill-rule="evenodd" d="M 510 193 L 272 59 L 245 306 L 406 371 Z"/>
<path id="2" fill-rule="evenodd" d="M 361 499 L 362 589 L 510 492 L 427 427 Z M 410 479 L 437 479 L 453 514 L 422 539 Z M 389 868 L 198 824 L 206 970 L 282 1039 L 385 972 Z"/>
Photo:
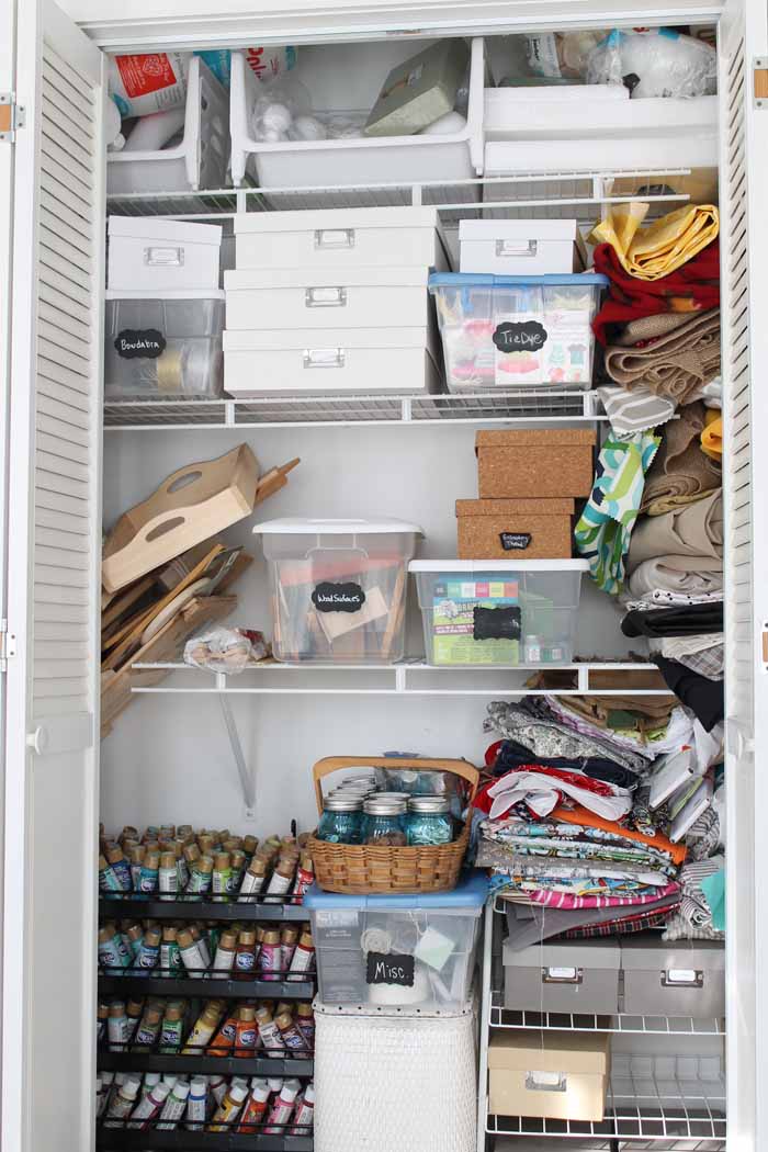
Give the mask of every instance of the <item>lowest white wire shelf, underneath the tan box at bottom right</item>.
<path id="1" fill-rule="evenodd" d="M 689 1063 L 695 1061 L 689 1061 Z M 493 1136 L 547 1136 L 565 1138 L 604 1137 L 607 1140 L 646 1140 L 660 1152 L 670 1150 L 707 1152 L 725 1149 L 725 1085 L 722 1075 L 661 1076 L 640 1073 L 628 1060 L 616 1062 L 606 1100 L 604 1120 L 541 1120 L 489 1113 L 486 1131 Z M 709 1143 L 707 1143 L 709 1142 Z"/>

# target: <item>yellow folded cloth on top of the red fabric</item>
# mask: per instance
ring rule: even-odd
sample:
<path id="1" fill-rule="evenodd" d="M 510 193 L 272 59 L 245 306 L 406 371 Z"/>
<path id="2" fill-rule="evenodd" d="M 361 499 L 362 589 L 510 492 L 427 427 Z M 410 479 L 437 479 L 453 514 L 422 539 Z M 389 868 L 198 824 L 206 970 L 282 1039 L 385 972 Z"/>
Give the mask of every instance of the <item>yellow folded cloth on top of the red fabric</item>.
<path id="1" fill-rule="evenodd" d="M 640 200 L 614 204 L 590 235 L 592 244 L 611 244 L 624 270 L 638 280 L 668 276 L 710 244 L 720 230 L 713 204 L 685 204 L 641 228 L 649 207 Z"/>

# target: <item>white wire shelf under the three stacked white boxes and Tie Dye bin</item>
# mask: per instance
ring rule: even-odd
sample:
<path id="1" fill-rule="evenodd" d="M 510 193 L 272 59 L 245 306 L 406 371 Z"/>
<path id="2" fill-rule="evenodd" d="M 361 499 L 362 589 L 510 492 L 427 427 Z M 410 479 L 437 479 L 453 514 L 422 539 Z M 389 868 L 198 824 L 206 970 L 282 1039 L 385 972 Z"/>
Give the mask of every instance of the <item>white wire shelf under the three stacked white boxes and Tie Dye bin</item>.
<path id="1" fill-rule="evenodd" d="M 334 424 L 504 424 L 588 422 L 607 416 L 594 392 L 519 389 L 466 395 L 259 396 L 250 400 L 120 400 L 104 406 L 107 431 L 295 427 Z"/>

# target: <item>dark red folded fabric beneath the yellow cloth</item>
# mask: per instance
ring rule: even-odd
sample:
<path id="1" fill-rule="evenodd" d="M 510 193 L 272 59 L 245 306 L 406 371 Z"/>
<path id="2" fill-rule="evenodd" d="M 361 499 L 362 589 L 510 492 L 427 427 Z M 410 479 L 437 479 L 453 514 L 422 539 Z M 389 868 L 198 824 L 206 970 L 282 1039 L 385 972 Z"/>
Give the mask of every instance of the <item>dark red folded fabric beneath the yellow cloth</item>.
<path id="1" fill-rule="evenodd" d="M 598 244 L 594 270 L 610 280 L 608 295 L 592 321 L 601 344 L 606 328 L 659 312 L 700 312 L 720 305 L 720 243 L 713 240 L 677 272 L 660 280 L 636 280 L 622 267 L 613 244 Z"/>

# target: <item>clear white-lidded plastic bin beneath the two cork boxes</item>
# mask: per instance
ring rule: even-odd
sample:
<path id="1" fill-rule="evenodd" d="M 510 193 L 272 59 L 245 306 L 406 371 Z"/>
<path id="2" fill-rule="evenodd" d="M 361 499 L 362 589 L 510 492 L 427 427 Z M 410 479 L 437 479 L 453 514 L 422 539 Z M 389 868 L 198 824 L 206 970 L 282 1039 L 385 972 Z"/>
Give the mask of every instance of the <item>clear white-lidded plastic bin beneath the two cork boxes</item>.
<path id="1" fill-rule="evenodd" d="M 433 665 L 571 664 L 586 560 L 416 560 Z"/>

